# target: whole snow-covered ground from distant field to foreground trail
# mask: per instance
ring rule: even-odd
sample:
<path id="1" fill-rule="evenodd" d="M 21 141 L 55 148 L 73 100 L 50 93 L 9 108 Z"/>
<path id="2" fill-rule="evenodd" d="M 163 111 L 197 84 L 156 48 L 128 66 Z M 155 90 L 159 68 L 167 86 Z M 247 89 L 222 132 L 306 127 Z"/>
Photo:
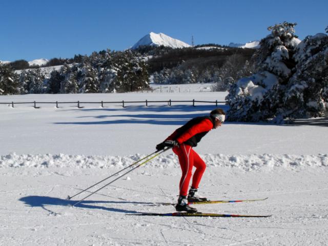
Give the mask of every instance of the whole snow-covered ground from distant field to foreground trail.
<path id="1" fill-rule="evenodd" d="M 226 96 L 208 92 L 206 85 L 163 87 L 148 93 L 0 96 L 0 102 Z M 327 119 L 294 125 L 225 122 L 195 148 L 208 165 L 200 187 L 208 198 L 269 197 L 198 205 L 199 211 L 272 217 L 140 217 L 126 214 L 174 212 L 171 206 L 153 206 L 177 199 L 180 169 L 170 151 L 76 208 L 69 205 L 90 193 L 71 202 L 66 197 L 152 153 L 173 130 L 215 105 L 37 106 L 0 105 L 0 245 L 326 245 Z"/>

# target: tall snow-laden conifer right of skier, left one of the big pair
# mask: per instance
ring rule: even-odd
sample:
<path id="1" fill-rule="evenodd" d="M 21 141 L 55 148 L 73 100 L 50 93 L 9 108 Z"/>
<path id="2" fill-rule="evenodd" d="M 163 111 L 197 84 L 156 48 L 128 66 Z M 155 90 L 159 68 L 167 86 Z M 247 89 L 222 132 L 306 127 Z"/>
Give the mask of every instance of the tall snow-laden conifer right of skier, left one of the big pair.
<path id="1" fill-rule="evenodd" d="M 295 35 L 294 23 L 282 23 L 268 30 L 252 62 L 256 73 L 243 77 L 232 85 L 226 97 L 230 110 L 229 120 L 258 121 L 275 117 L 281 104 L 281 92 L 291 76 L 290 57 L 300 42 Z M 290 68 L 289 68 L 289 67 Z"/>

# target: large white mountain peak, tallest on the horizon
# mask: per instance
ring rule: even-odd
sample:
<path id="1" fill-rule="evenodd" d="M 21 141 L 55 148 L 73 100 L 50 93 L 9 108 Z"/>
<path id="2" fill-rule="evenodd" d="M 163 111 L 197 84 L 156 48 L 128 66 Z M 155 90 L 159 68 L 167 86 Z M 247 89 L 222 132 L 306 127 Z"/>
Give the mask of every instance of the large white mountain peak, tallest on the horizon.
<path id="1" fill-rule="evenodd" d="M 166 46 L 172 48 L 184 48 L 190 47 L 185 42 L 182 42 L 178 39 L 172 38 L 164 33 L 154 33 L 151 32 L 146 36 L 142 37 L 133 47 L 132 49 L 136 49 L 139 46 L 149 45 L 149 46 Z"/>

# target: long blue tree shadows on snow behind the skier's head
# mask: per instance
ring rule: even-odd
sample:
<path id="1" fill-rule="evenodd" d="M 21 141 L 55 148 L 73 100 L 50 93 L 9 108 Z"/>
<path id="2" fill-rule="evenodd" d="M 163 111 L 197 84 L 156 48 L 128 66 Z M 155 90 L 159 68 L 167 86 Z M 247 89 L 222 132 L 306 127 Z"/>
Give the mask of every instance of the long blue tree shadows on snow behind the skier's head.
<path id="1" fill-rule="evenodd" d="M 112 124 L 150 124 L 150 125 L 171 125 L 182 126 L 188 120 L 209 115 L 215 108 L 222 108 L 228 111 L 228 105 L 199 105 L 196 107 L 186 105 L 176 106 L 128 106 L 126 108 L 82 108 L 75 109 L 76 112 L 99 112 L 97 116 L 79 116 L 81 118 L 92 118 L 89 121 L 68 121 L 68 122 L 54 122 L 57 125 L 112 125 Z M 72 111 L 72 110 L 69 110 Z M 197 113 L 195 113 L 197 111 Z M 126 114 L 116 114 L 116 112 L 127 112 Z M 142 112 L 140 114 L 129 114 L 129 112 Z M 176 113 L 181 114 L 176 114 Z M 174 113 L 174 114 L 170 114 Z M 120 119 L 115 119 L 119 117 Z M 123 119 L 122 119 L 123 118 Z M 94 120 L 98 119 L 98 120 Z M 104 120 L 107 119 L 107 120 Z M 296 119 L 292 124 L 275 124 L 271 122 L 232 122 L 226 121 L 225 125 L 274 125 L 274 126 L 318 126 L 328 127 L 328 118 L 311 118 L 311 119 Z"/>

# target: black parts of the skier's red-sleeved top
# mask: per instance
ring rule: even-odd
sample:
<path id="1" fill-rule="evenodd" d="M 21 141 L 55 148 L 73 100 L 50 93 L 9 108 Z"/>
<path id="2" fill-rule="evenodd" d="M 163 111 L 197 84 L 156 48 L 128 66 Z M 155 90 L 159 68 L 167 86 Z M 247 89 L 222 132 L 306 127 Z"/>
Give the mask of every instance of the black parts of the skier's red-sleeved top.
<path id="1" fill-rule="evenodd" d="M 200 121 L 204 120 L 204 119 L 209 119 L 211 120 L 211 122 L 213 123 L 213 128 L 214 128 L 214 124 L 215 121 L 211 116 L 200 116 L 200 117 L 196 117 L 193 118 L 191 120 L 189 120 L 185 125 L 183 125 L 182 127 L 176 129 L 177 135 L 175 137 L 175 140 L 181 136 L 183 133 L 185 133 L 188 129 L 190 129 L 191 127 L 193 127 L 194 125 L 198 124 Z M 191 138 L 189 138 L 188 140 L 186 140 L 185 142 L 183 142 L 183 144 L 192 146 L 192 147 L 196 147 L 197 143 L 200 141 L 200 139 L 205 136 L 207 132 L 200 132 L 197 133 L 196 135 L 192 136 Z"/>

